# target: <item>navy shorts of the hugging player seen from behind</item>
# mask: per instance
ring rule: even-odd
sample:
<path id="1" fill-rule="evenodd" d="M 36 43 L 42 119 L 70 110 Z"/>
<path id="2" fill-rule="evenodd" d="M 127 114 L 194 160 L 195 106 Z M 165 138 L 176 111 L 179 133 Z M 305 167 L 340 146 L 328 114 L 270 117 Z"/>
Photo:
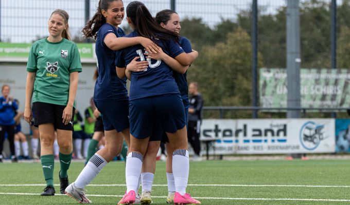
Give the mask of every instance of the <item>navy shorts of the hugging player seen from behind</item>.
<path id="1" fill-rule="evenodd" d="M 170 133 L 186 125 L 181 96 L 169 94 L 132 100 L 129 103 L 129 120 L 130 133 L 134 137 L 161 140 L 162 134 L 158 134 L 158 130 L 155 130 L 159 125 L 164 132 Z"/>

